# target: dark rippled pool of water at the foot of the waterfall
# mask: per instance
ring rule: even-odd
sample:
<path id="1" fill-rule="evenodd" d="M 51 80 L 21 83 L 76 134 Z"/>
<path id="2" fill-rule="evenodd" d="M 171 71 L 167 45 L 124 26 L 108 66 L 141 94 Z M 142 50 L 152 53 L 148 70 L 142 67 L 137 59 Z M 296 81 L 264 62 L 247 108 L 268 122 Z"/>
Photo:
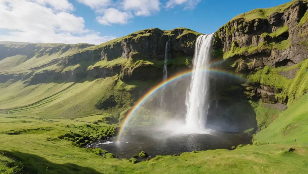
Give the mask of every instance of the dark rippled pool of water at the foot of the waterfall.
<path id="1" fill-rule="evenodd" d="M 138 133 L 139 132 L 139 133 Z M 180 155 L 183 152 L 209 149 L 230 149 L 239 144 L 249 144 L 251 136 L 245 133 L 213 132 L 209 134 L 178 134 L 165 138 L 146 136 L 142 130 L 134 132 L 133 136 L 122 138 L 116 142 L 116 138 L 101 140 L 87 146 L 87 148 L 101 148 L 121 158 L 131 158 L 141 151 L 145 151 L 150 157 L 156 155 Z"/>

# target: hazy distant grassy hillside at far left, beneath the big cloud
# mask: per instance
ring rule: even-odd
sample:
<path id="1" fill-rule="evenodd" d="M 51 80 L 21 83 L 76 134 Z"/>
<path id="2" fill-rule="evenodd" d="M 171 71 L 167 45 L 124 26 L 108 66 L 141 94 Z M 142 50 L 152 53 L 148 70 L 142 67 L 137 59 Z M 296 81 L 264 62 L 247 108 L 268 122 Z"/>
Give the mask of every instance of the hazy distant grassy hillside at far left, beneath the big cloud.
<path id="1" fill-rule="evenodd" d="M 6 50 L 16 50 L 25 55 L 15 55 L 13 57 L 3 58 L 0 61 L 0 67 L 9 66 L 10 68 L 1 68 L 1 73 L 28 73 L 40 66 L 47 67 L 47 63 L 55 61 L 50 69 L 59 68 L 59 58 L 77 53 L 79 50 L 93 46 L 91 44 L 62 44 L 62 43 L 27 43 L 27 42 L 0 42 Z M 0 56 L 1 59 L 1 56 Z M 10 63 L 10 65 L 8 65 Z"/>

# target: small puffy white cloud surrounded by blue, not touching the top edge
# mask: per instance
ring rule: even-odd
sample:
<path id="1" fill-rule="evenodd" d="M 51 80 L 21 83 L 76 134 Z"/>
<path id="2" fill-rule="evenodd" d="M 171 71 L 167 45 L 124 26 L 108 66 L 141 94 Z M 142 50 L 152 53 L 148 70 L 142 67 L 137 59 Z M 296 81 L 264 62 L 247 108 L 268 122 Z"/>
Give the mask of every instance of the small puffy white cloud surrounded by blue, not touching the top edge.
<path id="1" fill-rule="evenodd" d="M 122 12 L 115 8 L 109 8 L 104 11 L 103 16 L 98 16 L 96 20 L 100 24 L 111 26 L 111 24 L 127 24 L 128 20 L 132 17 L 130 12 Z"/>

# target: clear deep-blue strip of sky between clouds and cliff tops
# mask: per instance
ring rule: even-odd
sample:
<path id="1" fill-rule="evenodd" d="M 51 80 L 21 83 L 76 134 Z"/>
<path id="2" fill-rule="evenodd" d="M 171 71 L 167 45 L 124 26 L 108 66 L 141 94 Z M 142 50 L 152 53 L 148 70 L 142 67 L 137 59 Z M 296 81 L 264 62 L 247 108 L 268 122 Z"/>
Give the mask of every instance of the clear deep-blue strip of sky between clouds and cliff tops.
<path id="1" fill-rule="evenodd" d="M 217 31 L 234 16 L 256 8 L 268 8 L 289 2 L 289 0 L 201 0 L 192 10 L 183 10 L 184 5 L 175 6 L 172 9 L 161 8 L 159 12 L 151 16 L 137 16 L 126 25 L 104 26 L 95 21 L 95 12 L 90 7 L 70 0 L 76 7 L 75 14 L 85 18 L 86 26 L 106 35 L 122 37 L 137 30 L 146 28 L 160 28 L 171 30 L 177 27 L 185 27 L 200 33 L 209 34 Z M 161 1 L 162 3 L 165 1 Z"/>

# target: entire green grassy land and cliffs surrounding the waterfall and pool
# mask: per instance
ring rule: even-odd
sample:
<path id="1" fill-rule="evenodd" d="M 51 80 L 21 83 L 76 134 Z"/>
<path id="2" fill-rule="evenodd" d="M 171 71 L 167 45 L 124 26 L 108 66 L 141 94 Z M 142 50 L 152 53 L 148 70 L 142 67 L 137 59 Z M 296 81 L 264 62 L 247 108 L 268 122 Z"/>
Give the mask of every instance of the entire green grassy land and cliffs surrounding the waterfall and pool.
<path id="1" fill-rule="evenodd" d="M 0 173 L 308 173 L 307 26 L 308 1 L 293 0 L 239 14 L 214 33 L 213 68 L 237 79 L 211 74 L 209 123 L 247 133 L 250 144 L 137 164 L 83 147 L 116 136 L 162 81 L 169 39 L 168 76 L 189 70 L 201 33 L 153 28 L 101 45 L 0 42 Z M 185 85 L 163 94 L 179 100 L 167 116 L 185 115 Z M 147 102 L 132 127 L 155 121 L 149 115 L 162 106 Z"/>

